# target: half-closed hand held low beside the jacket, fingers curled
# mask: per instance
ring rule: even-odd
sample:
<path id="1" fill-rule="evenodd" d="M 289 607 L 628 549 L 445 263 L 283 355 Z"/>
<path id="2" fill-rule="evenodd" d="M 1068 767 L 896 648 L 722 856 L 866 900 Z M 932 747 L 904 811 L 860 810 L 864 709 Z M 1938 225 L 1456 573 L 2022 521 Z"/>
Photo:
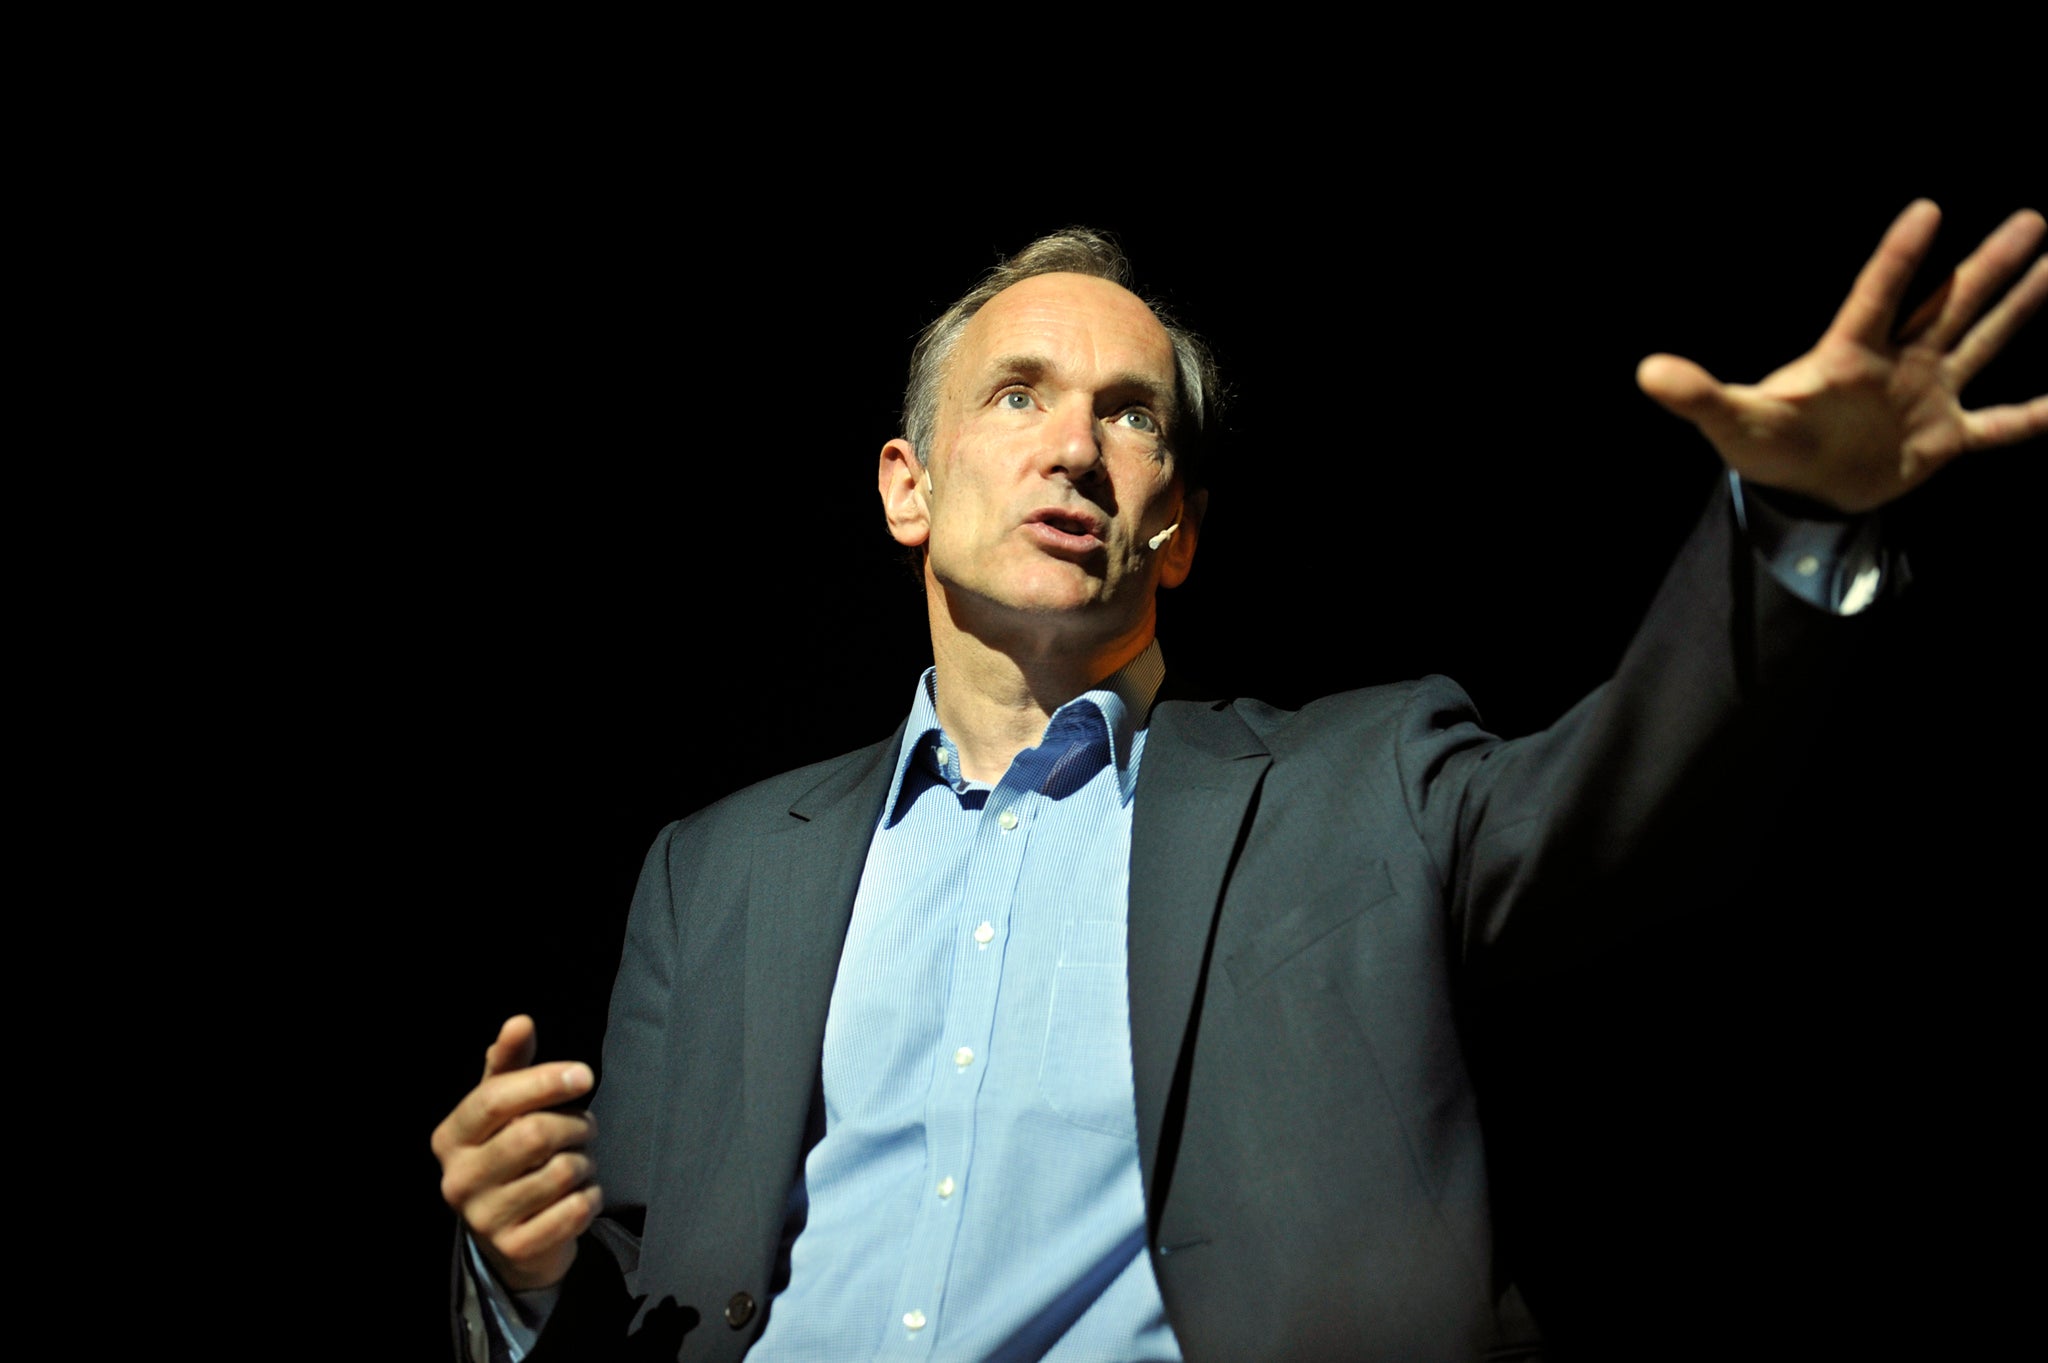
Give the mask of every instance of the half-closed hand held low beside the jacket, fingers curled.
<path id="1" fill-rule="evenodd" d="M 575 1263 L 575 1236 L 604 1210 L 582 1152 L 596 1122 L 547 1111 L 590 1093 L 590 1066 L 532 1064 L 532 1019 L 506 1019 L 483 1052 L 483 1083 L 434 1128 L 440 1195 L 512 1291 L 559 1283 Z"/>

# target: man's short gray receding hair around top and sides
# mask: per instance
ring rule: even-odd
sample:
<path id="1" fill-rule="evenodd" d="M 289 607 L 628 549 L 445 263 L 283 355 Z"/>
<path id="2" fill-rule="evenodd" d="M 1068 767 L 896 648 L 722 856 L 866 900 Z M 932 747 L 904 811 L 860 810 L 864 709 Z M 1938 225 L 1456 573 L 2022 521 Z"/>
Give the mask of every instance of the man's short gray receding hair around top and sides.
<path id="1" fill-rule="evenodd" d="M 1038 237 L 1016 256 L 997 262 L 961 299 L 942 311 L 920 336 L 909 352 L 909 385 L 903 389 L 903 436 L 918 450 L 918 458 L 930 452 L 930 440 L 938 430 L 938 389 L 946 377 L 946 360 L 961 342 L 961 332 L 981 307 L 1010 284 L 1034 274 L 1087 274 L 1106 278 L 1112 284 L 1130 289 L 1130 262 L 1124 260 L 1116 241 L 1090 227 L 1067 227 Z M 1223 401 L 1223 385 L 1217 379 L 1217 360 L 1202 340 L 1176 323 L 1159 303 L 1141 297 L 1159 325 L 1174 342 L 1174 417 L 1167 422 L 1174 469 L 1192 491 L 1206 485 L 1202 475 L 1204 454 L 1217 411 Z"/>

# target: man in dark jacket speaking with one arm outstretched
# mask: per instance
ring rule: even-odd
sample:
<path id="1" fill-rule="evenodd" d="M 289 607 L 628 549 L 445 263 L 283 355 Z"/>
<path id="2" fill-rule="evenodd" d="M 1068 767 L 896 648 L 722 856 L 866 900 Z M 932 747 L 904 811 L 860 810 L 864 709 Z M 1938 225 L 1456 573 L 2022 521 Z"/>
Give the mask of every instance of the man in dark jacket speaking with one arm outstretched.
<path id="1" fill-rule="evenodd" d="M 1616 679 L 1516 743 L 1440 679 L 1159 700 L 1212 375 L 1098 239 L 1012 260 L 920 344 L 879 465 L 936 657 L 903 731 L 664 833 L 594 1117 L 551 1111 L 590 1070 L 532 1066 L 512 1019 L 436 1132 L 477 1322 L 545 1320 L 535 1359 L 1516 1343 L 1460 1007 L 1710 855 L 1829 612 L 1878 591 L 1855 522 L 1759 489 L 1864 514 L 2048 430 L 2048 399 L 1956 403 L 2048 295 L 2036 260 L 1999 297 L 2042 219 L 1894 334 L 1935 221 L 1907 209 L 1753 389 L 1642 364 L 1741 485 Z"/>

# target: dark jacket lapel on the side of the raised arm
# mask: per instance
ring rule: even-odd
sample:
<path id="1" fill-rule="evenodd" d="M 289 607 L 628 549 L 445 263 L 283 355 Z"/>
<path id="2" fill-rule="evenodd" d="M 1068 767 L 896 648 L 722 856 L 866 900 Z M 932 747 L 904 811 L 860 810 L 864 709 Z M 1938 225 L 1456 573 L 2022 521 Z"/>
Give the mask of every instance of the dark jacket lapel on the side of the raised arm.
<path id="1" fill-rule="evenodd" d="M 1147 1224 L 1157 1228 L 1159 1146 L 1223 886 L 1272 757 L 1229 708 L 1153 706 L 1130 825 L 1130 1064 Z M 1178 1124 L 1178 1117 L 1176 1117 Z M 1171 1162 L 1171 1152 L 1169 1152 Z"/>

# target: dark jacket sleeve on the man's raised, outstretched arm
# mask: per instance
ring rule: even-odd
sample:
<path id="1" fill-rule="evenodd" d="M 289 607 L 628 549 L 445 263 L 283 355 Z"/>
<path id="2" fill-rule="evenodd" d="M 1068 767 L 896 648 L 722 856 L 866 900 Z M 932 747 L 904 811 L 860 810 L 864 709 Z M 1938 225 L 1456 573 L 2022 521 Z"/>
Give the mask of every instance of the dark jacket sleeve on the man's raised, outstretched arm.
<path id="1" fill-rule="evenodd" d="M 1403 786 L 1466 964 L 1520 970 L 1731 876 L 1862 632 L 1778 583 L 1722 485 L 1614 677 L 1556 724 L 1501 743 L 1462 694 L 1417 690 Z"/>

